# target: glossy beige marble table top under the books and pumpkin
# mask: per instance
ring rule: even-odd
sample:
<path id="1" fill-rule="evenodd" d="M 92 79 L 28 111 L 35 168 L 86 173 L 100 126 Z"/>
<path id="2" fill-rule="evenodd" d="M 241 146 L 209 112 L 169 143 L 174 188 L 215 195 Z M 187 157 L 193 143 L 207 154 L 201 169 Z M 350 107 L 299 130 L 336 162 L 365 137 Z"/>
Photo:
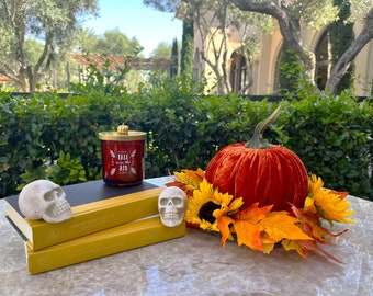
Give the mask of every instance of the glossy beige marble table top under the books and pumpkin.
<path id="1" fill-rule="evenodd" d="M 344 264 L 282 248 L 223 248 L 216 235 L 188 229 L 182 238 L 36 275 L 27 273 L 23 240 L 0 200 L 0 295 L 373 295 L 373 203 L 348 198 L 355 224 L 336 224 L 332 231 L 349 231 L 323 246 Z"/>

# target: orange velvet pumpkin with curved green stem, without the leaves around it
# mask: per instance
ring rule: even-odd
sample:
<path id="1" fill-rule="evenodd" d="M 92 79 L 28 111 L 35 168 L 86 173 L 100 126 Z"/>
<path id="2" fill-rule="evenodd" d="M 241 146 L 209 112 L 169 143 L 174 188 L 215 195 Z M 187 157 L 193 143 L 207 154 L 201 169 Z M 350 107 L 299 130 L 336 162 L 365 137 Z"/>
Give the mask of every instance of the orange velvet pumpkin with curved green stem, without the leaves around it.
<path id="1" fill-rule="evenodd" d="M 206 168 L 205 178 L 214 187 L 242 197 L 241 209 L 256 202 L 273 205 L 273 210 L 304 205 L 308 193 L 304 163 L 290 149 L 270 145 L 262 137 L 279 114 L 280 107 L 257 125 L 251 140 L 224 147 Z"/>

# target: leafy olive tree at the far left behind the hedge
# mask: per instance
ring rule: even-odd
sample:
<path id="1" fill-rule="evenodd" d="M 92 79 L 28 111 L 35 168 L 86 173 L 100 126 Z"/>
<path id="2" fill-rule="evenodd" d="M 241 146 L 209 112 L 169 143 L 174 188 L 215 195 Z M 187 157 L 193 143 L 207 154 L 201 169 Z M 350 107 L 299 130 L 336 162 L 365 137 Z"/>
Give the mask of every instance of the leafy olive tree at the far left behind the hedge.
<path id="1" fill-rule="evenodd" d="M 0 73 L 23 91 L 34 91 L 57 56 L 70 50 L 79 20 L 97 12 L 97 0 L 0 0 Z M 43 50 L 27 59 L 26 41 Z"/>

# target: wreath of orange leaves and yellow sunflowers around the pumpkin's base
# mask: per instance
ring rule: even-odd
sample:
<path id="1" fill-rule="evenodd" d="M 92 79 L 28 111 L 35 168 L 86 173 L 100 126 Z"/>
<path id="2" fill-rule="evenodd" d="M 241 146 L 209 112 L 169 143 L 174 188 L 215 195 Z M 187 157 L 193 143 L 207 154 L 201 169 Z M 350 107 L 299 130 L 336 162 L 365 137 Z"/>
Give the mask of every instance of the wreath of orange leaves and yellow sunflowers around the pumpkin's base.
<path id="1" fill-rule="evenodd" d="M 281 243 L 286 250 L 295 250 L 302 257 L 316 251 L 329 259 L 342 263 L 339 259 L 323 250 L 318 243 L 330 242 L 327 238 L 337 237 L 321 226 L 321 220 L 352 224 L 348 217 L 354 212 L 344 198 L 347 192 L 324 189 L 323 181 L 316 175 L 308 178 L 308 196 L 303 208 L 291 206 L 291 210 L 273 212 L 272 205 L 259 207 L 258 203 L 240 210 L 242 198 L 222 193 L 204 178 L 202 169 L 174 172 L 174 181 L 167 186 L 182 189 L 189 197 L 185 221 L 190 227 L 206 231 L 221 232 L 222 244 L 226 240 L 237 240 L 252 250 L 270 253 Z"/>

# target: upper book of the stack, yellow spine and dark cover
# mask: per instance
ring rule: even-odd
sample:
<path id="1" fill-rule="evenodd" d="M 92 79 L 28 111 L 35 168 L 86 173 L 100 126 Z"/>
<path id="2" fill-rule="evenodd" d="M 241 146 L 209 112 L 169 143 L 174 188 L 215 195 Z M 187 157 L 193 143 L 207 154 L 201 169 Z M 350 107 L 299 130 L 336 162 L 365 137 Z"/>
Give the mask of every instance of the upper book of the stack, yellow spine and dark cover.
<path id="1" fill-rule="evenodd" d="M 37 251 L 156 215 L 158 214 L 158 195 L 161 191 L 161 187 L 146 183 L 131 189 L 113 189 L 101 181 L 66 186 L 68 201 L 76 205 L 71 206 L 72 217 L 58 224 L 24 218 L 18 208 L 18 196 L 5 197 L 5 201 L 9 203 L 9 218 L 30 240 L 29 244 L 32 250 Z M 108 194 L 115 197 L 105 196 Z M 100 200 L 100 196 L 105 198 Z"/>

